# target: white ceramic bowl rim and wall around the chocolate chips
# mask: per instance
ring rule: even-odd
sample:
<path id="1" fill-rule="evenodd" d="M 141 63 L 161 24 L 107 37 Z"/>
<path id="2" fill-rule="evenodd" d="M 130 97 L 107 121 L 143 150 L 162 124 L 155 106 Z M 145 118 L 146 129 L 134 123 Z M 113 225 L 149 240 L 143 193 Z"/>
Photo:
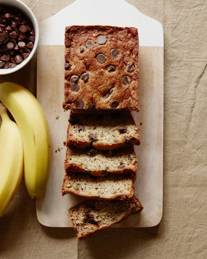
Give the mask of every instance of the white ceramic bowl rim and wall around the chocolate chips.
<path id="1" fill-rule="evenodd" d="M 36 20 L 36 17 L 34 16 L 33 12 L 23 2 L 21 2 L 19 0 L 0 0 L 0 5 L 18 8 L 20 11 L 22 11 L 25 14 L 25 16 L 27 16 L 30 19 L 30 21 L 33 25 L 34 31 L 35 31 L 34 46 L 33 46 L 31 53 L 29 54 L 29 56 L 25 60 L 23 60 L 21 63 L 17 64 L 17 66 L 14 68 L 7 68 L 7 69 L 0 68 L 0 75 L 6 75 L 6 74 L 16 72 L 17 70 L 23 68 L 32 59 L 32 57 L 36 51 L 37 45 L 38 45 L 39 26 L 38 26 L 38 22 Z"/>

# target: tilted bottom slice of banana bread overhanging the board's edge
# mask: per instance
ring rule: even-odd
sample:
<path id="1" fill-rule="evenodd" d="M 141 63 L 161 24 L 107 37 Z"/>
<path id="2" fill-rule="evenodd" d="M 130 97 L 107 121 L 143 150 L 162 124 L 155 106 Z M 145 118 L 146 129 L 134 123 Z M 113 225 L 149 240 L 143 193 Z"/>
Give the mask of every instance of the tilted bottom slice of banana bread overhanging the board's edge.
<path id="1" fill-rule="evenodd" d="M 85 200 L 71 207 L 68 217 L 78 240 L 82 240 L 142 210 L 142 204 L 133 195 L 129 200 Z"/>

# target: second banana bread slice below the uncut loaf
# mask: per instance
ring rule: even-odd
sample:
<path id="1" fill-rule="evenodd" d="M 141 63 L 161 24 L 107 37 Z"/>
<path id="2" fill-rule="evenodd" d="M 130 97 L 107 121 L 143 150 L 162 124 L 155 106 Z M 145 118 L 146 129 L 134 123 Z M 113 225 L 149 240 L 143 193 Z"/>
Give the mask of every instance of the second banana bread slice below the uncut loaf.
<path id="1" fill-rule="evenodd" d="M 97 150 L 95 148 L 76 148 L 66 150 L 65 172 L 87 172 L 94 176 L 112 174 L 131 174 L 136 177 L 137 159 L 134 147 Z"/>

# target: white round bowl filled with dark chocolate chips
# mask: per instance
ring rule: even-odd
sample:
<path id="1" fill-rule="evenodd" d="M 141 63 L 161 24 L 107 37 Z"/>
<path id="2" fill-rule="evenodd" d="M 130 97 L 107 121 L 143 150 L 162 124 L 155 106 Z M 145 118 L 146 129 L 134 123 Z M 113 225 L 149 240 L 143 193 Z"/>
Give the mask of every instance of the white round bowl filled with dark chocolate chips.
<path id="1" fill-rule="evenodd" d="M 24 67 L 33 57 L 39 27 L 33 12 L 19 0 L 0 0 L 0 75 Z"/>

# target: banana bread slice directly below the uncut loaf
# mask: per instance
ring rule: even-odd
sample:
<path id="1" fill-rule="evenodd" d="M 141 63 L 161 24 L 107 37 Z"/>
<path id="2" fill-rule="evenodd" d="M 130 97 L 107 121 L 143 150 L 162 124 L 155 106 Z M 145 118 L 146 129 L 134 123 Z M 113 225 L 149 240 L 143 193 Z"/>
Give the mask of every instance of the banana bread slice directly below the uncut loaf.
<path id="1" fill-rule="evenodd" d="M 101 150 L 140 145 L 139 128 L 130 111 L 102 111 L 102 114 L 70 113 L 67 146 Z"/>

